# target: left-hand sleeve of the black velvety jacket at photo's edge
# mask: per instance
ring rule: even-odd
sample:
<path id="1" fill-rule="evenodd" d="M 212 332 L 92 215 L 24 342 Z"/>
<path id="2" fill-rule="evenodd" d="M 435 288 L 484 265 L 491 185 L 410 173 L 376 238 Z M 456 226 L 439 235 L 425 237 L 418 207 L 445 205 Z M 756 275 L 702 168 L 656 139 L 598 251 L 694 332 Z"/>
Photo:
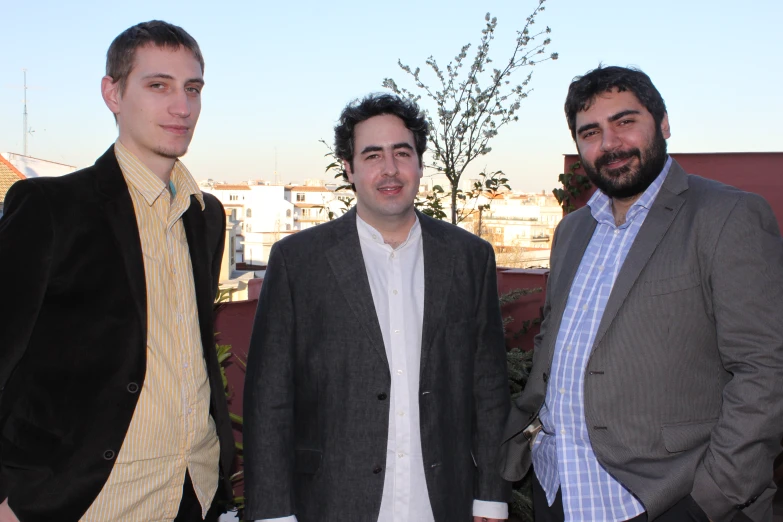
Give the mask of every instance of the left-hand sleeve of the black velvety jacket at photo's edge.
<path id="1" fill-rule="evenodd" d="M 24 355 L 46 295 L 54 226 L 41 189 L 18 181 L 0 219 L 0 391 Z"/>

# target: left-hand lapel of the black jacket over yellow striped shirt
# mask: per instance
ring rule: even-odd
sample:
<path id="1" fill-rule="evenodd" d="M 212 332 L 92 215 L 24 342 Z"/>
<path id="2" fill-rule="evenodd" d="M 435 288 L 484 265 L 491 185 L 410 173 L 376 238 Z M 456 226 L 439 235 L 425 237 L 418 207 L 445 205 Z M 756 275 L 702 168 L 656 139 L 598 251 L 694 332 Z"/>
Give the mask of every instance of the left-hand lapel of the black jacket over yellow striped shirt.
<path id="1" fill-rule="evenodd" d="M 97 167 L 97 190 L 103 197 L 103 209 L 112 229 L 117 246 L 125 262 L 125 275 L 128 278 L 136 312 L 139 315 L 144 336 L 147 335 L 147 283 L 144 276 L 144 257 L 141 253 L 139 226 L 133 209 L 128 185 L 122 175 L 114 145 L 95 162 Z"/>

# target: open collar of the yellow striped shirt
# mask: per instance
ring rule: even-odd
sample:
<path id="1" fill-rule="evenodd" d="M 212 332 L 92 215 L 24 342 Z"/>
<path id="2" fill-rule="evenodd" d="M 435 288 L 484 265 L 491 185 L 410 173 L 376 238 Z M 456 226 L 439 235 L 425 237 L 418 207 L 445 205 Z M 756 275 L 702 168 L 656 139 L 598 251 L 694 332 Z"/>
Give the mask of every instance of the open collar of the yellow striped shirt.
<path id="1" fill-rule="evenodd" d="M 117 157 L 117 163 L 120 165 L 125 180 L 139 191 L 148 205 L 152 206 L 168 187 L 135 154 L 120 143 L 119 139 L 114 142 L 114 155 Z M 176 194 L 188 199 L 190 196 L 196 196 L 201 210 L 204 210 L 204 195 L 198 188 L 196 180 L 180 160 L 177 160 L 171 169 L 170 183 L 172 200 Z"/>

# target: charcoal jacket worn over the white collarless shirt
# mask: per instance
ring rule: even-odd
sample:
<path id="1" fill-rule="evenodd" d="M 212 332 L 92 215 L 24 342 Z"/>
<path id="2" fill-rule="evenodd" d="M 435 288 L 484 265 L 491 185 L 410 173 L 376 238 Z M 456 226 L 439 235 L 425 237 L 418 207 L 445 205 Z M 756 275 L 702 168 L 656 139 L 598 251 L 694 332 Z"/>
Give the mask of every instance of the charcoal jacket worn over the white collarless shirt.
<path id="1" fill-rule="evenodd" d="M 468 521 L 474 498 L 510 493 L 497 472 L 510 401 L 495 259 L 473 234 L 419 220 L 427 489 L 435 520 Z M 376 520 L 390 389 L 355 210 L 278 242 L 245 384 L 246 519 Z"/>

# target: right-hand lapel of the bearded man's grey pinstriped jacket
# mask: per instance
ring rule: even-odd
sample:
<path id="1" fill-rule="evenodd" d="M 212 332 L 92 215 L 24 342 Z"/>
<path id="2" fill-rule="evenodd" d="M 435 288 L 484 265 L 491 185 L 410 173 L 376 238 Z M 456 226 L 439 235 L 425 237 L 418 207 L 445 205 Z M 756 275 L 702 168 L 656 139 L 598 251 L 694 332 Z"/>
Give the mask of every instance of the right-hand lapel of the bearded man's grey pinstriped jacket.
<path id="1" fill-rule="evenodd" d="M 647 262 L 658 248 L 666 231 L 669 230 L 674 218 L 685 203 L 685 198 L 680 194 L 687 190 L 687 174 L 677 162 L 672 160 L 669 173 L 661 187 L 658 197 L 655 198 L 647 218 L 644 220 L 639 234 L 631 245 L 631 250 L 625 258 L 623 267 L 617 275 L 617 280 L 612 287 L 612 293 L 604 309 L 604 315 L 601 318 L 601 324 L 598 326 L 598 332 L 595 336 L 593 348 L 598 346 L 609 326 L 620 311 L 625 298 L 633 288 L 639 274 L 642 273 Z"/>

